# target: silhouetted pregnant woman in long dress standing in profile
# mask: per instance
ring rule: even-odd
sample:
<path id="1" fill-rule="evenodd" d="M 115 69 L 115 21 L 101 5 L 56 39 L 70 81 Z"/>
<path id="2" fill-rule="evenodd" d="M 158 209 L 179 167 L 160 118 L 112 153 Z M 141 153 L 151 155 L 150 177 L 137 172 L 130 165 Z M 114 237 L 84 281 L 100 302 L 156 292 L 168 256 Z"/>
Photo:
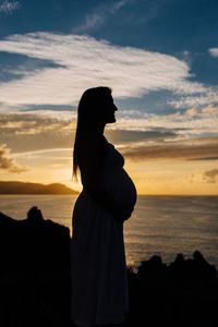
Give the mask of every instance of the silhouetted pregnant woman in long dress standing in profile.
<path id="1" fill-rule="evenodd" d="M 83 191 L 73 211 L 72 322 L 78 326 L 122 324 L 128 312 L 123 221 L 136 190 L 123 169 L 124 159 L 104 136 L 114 123 L 111 89 L 87 89 L 78 104 L 73 172 Z"/>

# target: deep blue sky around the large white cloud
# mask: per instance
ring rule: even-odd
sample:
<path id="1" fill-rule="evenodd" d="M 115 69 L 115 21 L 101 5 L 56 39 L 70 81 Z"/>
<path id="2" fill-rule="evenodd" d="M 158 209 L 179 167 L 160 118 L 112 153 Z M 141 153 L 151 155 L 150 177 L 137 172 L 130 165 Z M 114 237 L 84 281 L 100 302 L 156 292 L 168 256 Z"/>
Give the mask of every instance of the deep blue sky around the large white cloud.
<path id="1" fill-rule="evenodd" d="M 189 81 L 216 87 L 218 63 L 209 49 L 217 46 L 217 10 L 218 3 L 213 0 L 0 1 L 0 39 L 38 32 L 87 35 L 114 46 L 170 55 L 186 62 Z M 29 58 L 15 51 L 1 52 L 0 59 L 3 82 L 20 78 L 13 69 L 22 64 L 27 71 L 56 65 L 52 59 Z M 169 101 L 174 98 L 170 93 Z M 165 96 L 159 89 L 158 94 L 141 95 L 134 105 L 158 113 L 172 111 L 161 101 Z M 156 109 L 158 104 L 161 108 Z"/>

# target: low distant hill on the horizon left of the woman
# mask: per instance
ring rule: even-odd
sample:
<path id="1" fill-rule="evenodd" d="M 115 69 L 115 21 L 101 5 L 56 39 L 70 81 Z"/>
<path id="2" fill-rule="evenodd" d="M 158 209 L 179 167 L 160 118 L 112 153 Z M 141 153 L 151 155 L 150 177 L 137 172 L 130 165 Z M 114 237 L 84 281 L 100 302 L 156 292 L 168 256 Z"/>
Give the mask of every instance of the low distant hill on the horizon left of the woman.
<path id="1" fill-rule="evenodd" d="M 77 194 L 74 191 L 61 183 L 39 184 L 39 183 L 23 183 L 23 182 L 1 182 L 0 194 Z"/>

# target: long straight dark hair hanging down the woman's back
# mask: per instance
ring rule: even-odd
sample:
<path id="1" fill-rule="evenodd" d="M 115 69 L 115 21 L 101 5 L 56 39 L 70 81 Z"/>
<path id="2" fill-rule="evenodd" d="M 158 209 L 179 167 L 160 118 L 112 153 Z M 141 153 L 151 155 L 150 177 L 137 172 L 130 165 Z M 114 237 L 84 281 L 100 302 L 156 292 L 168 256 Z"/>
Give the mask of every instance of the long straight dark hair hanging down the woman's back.
<path id="1" fill-rule="evenodd" d="M 80 170 L 80 156 L 83 154 L 82 140 L 88 137 L 88 132 L 101 121 L 104 106 L 107 104 L 111 88 L 106 86 L 88 88 L 84 92 L 77 108 L 77 126 L 73 149 L 73 178 L 77 180 Z"/>

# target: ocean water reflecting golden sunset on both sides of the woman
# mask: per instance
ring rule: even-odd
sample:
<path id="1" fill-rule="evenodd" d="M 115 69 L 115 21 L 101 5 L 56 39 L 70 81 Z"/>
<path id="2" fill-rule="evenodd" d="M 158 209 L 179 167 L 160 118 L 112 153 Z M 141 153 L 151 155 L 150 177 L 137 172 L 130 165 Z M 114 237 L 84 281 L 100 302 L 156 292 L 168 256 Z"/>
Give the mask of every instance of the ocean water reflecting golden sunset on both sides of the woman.
<path id="1" fill-rule="evenodd" d="M 0 195 L 0 211 L 25 219 L 31 206 L 38 206 L 45 219 L 71 230 L 75 201 L 72 195 Z M 169 264 L 178 253 L 187 258 L 198 250 L 218 268 L 218 196 L 138 196 L 124 240 L 133 267 L 154 254 Z"/>

